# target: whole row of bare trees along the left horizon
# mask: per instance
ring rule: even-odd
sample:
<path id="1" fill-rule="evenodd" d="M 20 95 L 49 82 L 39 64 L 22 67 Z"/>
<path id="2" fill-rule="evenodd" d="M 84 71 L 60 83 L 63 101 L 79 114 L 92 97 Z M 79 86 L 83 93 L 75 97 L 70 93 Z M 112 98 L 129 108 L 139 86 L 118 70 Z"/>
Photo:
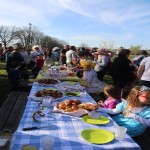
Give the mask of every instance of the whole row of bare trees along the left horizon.
<path id="1" fill-rule="evenodd" d="M 67 42 L 50 37 L 40 32 L 36 27 L 0 27 L 0 41 L 5 45 L 8 43 L 20 43 L 31 49 L 32 45 L 40 45 L 42 48 L 63 48 Z"/>

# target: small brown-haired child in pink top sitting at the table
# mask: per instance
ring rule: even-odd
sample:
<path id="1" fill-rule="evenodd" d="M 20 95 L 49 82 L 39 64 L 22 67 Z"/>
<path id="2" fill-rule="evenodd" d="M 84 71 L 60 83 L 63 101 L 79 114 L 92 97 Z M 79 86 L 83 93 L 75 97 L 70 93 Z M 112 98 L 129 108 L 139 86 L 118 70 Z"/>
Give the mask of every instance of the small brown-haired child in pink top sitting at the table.
<path id="1" fill-rule="evenodd" d="M 103 102 L 100 100 L 98 104 L 103 108 L 116 108 L 116 105 L 121 102 L 121 90 L 116 85 L 106 85 L 104 94 L 107 99 Z"/>

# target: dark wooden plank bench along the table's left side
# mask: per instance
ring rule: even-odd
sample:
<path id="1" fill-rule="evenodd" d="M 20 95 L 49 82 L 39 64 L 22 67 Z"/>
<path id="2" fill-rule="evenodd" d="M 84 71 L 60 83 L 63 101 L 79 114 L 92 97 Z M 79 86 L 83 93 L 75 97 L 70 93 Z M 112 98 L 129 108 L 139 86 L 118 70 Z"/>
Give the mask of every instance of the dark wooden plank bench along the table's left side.
<path id="1" fill-rule="evenodd" d="M 28 92 L 11 92 L 0 109 L 0 130 L 17 129 L 24 112 Z"/>

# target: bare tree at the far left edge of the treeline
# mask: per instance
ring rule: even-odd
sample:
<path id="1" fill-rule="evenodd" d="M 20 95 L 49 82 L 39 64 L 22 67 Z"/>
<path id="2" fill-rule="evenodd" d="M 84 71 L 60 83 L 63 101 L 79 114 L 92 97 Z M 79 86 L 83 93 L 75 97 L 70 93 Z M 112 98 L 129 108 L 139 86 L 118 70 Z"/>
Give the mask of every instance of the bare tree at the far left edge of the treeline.
<path id="1" fill-rule="evenodd" d="M 7 44 L 12 42 L 15 38 L 16 27 L 15 26 L 0 26 L 0 41 L 7 47 Z"/>

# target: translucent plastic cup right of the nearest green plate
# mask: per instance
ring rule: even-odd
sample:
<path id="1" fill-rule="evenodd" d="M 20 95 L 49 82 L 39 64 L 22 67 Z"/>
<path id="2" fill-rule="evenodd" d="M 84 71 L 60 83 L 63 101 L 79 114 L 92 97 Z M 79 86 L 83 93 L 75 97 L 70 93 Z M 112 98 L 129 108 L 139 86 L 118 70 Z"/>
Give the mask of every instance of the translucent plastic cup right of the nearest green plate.
<path id="1" fill-rule="evenodd" d="M 115 138 L 123 140 L 126 135 L 127 128 L 122 126 L 115 126 Z"/>

